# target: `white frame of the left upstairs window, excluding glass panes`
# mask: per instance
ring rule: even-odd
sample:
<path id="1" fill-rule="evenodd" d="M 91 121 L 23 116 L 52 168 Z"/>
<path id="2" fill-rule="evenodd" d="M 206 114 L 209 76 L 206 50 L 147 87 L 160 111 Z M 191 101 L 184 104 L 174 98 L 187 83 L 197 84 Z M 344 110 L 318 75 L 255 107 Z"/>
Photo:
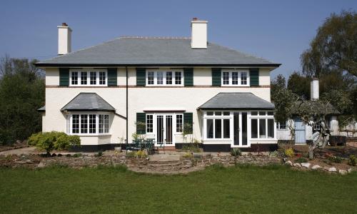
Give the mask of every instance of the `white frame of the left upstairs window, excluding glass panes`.
<path id="1" fill-rule="evenodd" d="M 72 84 L 72 73 L 73 72 L 77 72 L 78 73 L 78 77 L 77 77 L 77 84 Z M 86 76 L 86 84 L 81 84 L 81 72 L 86 72 L 87 76 Z M 96 72 L 96 84 L 91 84 L 91 72 Z M 100 72 L 105 72 L 106 73 L 106 78 L 105 84 L 100 84 L 99 83 L 99 73 Z M 69 86 L 72 87 L 90 87 L 90 86 L 99 86 L 99 87 L 105 87 L 108 86 L 108 72 L 106 71 L 106 69 L 71 69 L 69 71 Z"/>

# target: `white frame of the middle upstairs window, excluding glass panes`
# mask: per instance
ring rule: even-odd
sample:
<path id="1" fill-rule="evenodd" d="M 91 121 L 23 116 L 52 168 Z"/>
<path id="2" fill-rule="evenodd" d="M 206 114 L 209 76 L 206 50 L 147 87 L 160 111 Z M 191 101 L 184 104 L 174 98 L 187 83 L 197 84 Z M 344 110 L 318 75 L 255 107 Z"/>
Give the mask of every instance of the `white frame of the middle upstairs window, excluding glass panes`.
<path id="1" fill-rule="evenodd" d="M 154 72 L 154 84 L 149 84 L 149 72 Z M 163 73 L 163 83 L 162 84 L 158 84 L 157 83 L 157 73 L 158 72 L 162 72 Z M 171 84 L 166 84 L 166 72 L 171 72 L 172 76 L 171 76 Z M 181 84 L 176 84 L 176 72 L 180 72 L 181 73 Z M 146 86 L 184 86 L 184 77 L 183 77 L 183 70 L 180 69 L 170 69 L 170 70 L 146 70 Z"/>

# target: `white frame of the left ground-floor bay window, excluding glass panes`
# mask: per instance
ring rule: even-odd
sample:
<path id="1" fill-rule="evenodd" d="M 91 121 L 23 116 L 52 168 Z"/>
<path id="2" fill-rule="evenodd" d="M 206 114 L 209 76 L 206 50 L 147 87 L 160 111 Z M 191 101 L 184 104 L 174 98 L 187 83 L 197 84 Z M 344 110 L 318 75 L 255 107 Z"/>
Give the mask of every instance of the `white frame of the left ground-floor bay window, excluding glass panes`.
<path id="1" fill-rule="evenodd" d="M 96 115 L 96 133 L 89 133 L 89 115 Z M 79 133 L 72 133 L 72 117 L 79 115 Z M 81 115 L 87 116 L 87 133 L 81 133 Z M 99 115 L 108 115 L 108 133 L 99 133 Z M 111 135 L 111 113 L 108 112 L 95 112 L 95 111 L 78 111 L 66 115 L 66 132 L 73 136 L 108 136 Z"/>

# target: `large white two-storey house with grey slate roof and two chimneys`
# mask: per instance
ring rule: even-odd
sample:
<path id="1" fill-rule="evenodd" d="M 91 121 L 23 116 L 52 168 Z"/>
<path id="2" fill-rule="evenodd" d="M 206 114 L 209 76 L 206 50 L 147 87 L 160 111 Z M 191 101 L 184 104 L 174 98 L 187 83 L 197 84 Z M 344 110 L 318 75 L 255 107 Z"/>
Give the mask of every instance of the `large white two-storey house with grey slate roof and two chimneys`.
<path id="1" fill-rule="evenodd" d="M 181 148 L 184 126 L 204 151 L 276 148 L 270 72 L 280 64 L 208 42 L 207 24 L 193 19 L 191 38 L 120 37 L 74 52 L 71 29 L 58 26 L 59 56 L 36 63 L 43 131 L 78 135 L 87 151 L 134 133 Z"/>

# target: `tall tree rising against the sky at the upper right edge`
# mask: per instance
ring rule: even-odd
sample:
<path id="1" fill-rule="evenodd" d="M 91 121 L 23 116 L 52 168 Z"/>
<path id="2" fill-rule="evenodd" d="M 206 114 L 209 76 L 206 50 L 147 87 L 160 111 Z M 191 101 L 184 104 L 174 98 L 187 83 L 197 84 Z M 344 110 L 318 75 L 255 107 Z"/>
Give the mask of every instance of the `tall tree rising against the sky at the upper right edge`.
<path id="1" fill-rule="evenodd" d="M 310 48 L 301 54 L 303 73 L 320 77 L 323 73 L 346 71 L 357 77 L 357 14 L 331 14 L 318 28 Z"/>

